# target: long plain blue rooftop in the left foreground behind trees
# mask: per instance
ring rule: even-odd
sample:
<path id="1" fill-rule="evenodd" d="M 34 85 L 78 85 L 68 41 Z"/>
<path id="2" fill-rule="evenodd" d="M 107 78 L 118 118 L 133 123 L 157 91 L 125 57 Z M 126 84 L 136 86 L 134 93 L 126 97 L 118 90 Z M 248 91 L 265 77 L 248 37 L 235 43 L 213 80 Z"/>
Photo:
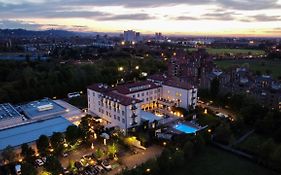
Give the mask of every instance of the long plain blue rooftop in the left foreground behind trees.
<path id="1" fill-rule="evenodd" d="M 8 145 L 19 146 L 36 141 L 41 135 L 51 136 L 53 132 L 65 132 L 71 122 L 63 117 L 38 121 L 9 129 L 0 130 L 0 150 Z"/>

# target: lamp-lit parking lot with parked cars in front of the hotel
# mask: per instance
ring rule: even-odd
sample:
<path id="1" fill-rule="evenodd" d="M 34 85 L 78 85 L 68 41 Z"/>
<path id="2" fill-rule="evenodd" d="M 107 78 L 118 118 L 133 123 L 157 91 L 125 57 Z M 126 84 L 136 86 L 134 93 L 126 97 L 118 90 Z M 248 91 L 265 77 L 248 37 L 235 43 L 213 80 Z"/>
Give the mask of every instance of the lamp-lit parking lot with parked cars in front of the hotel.
<path id="1" fill-rule="evenodd" d="M 78 150 L 71 151 L 67 157 L 60 158 L 61 164 L 66 168 L 69 166 L 70 161 L 74 161 L 76 162 L 76 168 L 80 169 L 80 173 L 82 174 L 114 175 L 120 173 L 125 168 L 132 169 L 149 159 L 155 158 L 163 151 L 163 147 L 158 145 L 150 146 L 146 150 L 136 148 L 134 153 L 128 150 L 127 152 L 123 152 L 118 160 L 108 160 L 108 167 L 105 168 L 106 166 L 102 164 L 102 161 L 98 161 L 92 156 L 97 148 L 104 149 L 104 145 L 96 143 L 94 149 L 82 147 Z"/>

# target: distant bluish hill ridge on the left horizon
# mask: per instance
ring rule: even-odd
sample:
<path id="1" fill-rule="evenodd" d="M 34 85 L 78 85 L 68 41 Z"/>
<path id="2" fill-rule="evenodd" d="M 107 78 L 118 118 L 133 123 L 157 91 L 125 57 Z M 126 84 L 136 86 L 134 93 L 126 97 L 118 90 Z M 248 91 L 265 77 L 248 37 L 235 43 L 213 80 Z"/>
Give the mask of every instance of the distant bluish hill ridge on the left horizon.
<path id="1" fill-rule="evenodd" d="M 73 32 L 67 30 L 43 30 L 33 31 L 25 29 L 0 29 L 0 38 L 7 37 L 73 37 L 73 36 L 90 36 L 97 33 Z"/>

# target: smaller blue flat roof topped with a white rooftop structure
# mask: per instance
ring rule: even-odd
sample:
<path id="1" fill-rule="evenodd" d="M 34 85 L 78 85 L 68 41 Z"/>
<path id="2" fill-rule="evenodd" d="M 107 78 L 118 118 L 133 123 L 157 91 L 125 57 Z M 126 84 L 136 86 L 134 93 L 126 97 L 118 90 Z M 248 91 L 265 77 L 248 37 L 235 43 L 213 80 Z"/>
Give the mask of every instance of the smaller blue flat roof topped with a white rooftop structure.
<path id="1" fill-rule="evenodd" d="M 32 101 L 21 105 L 21 110 L 28 118 L 38 118 L 45 116 L 59 116 L 66 112 L 66 109 L 51 99 L 44 98 L 42 100 Z M 46 107 L 46 108 L 41 108 Z"/>

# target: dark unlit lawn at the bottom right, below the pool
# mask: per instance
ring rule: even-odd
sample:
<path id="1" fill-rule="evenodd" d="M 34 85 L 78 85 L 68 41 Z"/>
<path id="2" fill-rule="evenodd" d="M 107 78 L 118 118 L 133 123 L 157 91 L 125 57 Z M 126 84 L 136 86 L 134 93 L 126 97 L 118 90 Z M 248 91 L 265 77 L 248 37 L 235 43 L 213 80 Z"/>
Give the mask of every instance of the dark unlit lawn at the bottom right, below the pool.
<path id="1" fill-rule="evenodd" d="M 217 148 L 207 147 L 195 156 L 177 175 L 277 175 L 244 158 Z"/>

